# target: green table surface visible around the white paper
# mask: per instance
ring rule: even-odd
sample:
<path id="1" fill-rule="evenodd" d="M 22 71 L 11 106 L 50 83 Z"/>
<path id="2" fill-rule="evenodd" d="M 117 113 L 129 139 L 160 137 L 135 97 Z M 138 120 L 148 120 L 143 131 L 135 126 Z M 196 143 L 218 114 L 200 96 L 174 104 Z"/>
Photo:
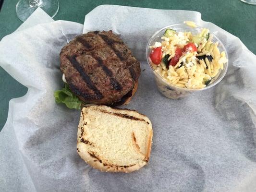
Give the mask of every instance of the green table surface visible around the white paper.
<path id="1" fill-rule="evenodd" d="M 17 18 L 18 0 L 5 0 L 0 12 L 0 39 L 11 34 L 22 22 Z M 85 14 L 98 5 L 116 4 L 155 9 L 192 10 L 201 12 L 204 21 L 239 37 L 256 54 L 256 5 L 240 0 L 59 0 L 60 10 L 55 20 L 84 23 Z M 0 56 L 1 57 L 1 56 Z M 8 103 L 14 97 L 24 96 L 27 88 L 14 80 L 0 67 L 0 130 L 8 114 Z"/>

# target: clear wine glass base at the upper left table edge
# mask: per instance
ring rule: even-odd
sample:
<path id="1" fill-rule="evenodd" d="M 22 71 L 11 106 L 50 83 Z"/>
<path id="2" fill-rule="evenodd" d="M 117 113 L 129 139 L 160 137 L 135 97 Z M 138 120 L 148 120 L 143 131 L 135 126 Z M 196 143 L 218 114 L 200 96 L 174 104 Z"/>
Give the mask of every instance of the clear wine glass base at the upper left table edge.
<path id="1" fill-rule="evenodd" d="M 25 21 L 38 7 L 44 10 L 49 16 L 54 17 L 59 11 L 58 0 L 38 0 L 36 5 L 30 5 L 29 0 L 19 0 L 16 5 L 16 14 L 21 21 Z"/>

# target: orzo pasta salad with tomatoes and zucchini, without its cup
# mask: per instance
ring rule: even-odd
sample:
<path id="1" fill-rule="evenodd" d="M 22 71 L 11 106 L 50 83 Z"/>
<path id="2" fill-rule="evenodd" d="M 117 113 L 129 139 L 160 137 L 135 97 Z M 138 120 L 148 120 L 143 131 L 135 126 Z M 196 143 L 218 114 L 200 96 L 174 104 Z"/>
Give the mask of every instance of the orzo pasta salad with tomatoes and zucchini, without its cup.
<path id="1" fill-rule="evenodd" d="M 212 42 L 209 29 L 197 34 L 166 29 L 161 42 L 150 46 L 154 70 L 167 82 L 178 87 L 201 89 L 223 70 L 225 52 Z"/>

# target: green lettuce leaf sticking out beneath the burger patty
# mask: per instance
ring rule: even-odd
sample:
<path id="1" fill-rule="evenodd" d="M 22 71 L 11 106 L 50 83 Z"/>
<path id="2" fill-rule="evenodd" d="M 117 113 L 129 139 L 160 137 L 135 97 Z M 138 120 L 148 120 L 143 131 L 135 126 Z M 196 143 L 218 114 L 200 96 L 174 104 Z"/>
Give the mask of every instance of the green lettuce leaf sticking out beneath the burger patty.
<path id="1" fill-rule="evenodd" d="M 81 109 L 81 104 L 83 103 L 77 96 L 73 95 L 66 83 L 61 90 L 54 92 L 54 97 L 56 103 L 64 103 L 68 108 Z"/>

